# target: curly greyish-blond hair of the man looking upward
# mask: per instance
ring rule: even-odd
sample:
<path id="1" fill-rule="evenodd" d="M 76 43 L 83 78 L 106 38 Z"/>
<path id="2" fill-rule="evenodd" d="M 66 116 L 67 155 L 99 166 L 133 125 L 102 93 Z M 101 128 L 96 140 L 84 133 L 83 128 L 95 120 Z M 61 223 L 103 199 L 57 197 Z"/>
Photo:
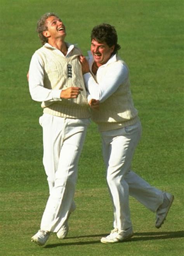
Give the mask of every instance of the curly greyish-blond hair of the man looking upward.
<path id="1" fill-rule="evenodd" d="M 48 19 L 50 16 L 55 16 L 59 18 L 54 12 L 47 12 L 42 15 L 42 17 L 37 22 L 37 28 L 36 31 L 38 32 L 38 36 L 40 37 L 40 40 L 42 42 L 42 45 L 48 42 L 47 37 L 44 37 L 43 31 L 47 30 L 47 25 L 45 24 L 46 19 Z"/>

